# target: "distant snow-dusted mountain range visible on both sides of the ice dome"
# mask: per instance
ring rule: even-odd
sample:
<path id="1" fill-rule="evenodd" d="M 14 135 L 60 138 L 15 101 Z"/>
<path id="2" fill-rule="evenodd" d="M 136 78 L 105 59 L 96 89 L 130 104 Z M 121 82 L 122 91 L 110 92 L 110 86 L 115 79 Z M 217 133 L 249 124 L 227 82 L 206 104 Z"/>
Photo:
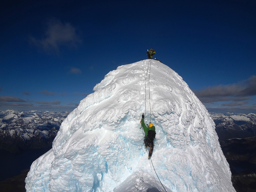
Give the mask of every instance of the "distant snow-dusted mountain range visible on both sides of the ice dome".
<path id="1" fill-rule="evenodd" d="M 23 149 L 52 146 L 61 122 L 69 112 L 0 111 L 0 149 L 20 152 Z M 256 136 L 256 115 L 250 113 L 211 113 L 220 141 Z"/>

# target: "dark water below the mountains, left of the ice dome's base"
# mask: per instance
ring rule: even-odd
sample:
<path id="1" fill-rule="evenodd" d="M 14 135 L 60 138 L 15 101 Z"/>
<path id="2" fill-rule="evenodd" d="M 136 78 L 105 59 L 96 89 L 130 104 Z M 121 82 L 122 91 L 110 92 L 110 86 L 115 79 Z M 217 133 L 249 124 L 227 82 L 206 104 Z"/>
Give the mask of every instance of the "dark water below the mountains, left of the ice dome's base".
<path id="1" fill-rule="evenodd" d="M 19 175 L 24 169 L 30 169 L 33 161 L 50 149 L 27 149 L 20 153 L 10 153 L 0 149 L 0 181 Z"/>

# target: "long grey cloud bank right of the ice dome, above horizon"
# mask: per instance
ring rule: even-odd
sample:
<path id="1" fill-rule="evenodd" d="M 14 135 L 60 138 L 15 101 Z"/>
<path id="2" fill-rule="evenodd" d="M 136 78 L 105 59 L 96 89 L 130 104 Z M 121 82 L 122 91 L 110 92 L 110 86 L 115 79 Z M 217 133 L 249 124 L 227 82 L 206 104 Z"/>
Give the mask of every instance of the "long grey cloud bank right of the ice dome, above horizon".
<path id="1" fill-rule="evenodd" d="M 235 84 L 211 86 L 194 92 L 203 103 L 249 100 L 256 95 L 256 76 Z"/>

